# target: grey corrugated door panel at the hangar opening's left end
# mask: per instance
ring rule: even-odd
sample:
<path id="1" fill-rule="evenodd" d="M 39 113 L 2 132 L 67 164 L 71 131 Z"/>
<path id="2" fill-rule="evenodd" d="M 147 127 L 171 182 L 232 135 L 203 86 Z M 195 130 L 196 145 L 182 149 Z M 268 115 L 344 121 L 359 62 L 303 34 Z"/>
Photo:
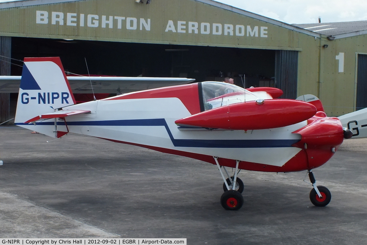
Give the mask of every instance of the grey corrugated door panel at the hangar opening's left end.
<path id="1" fill-rule="evenodd" d="M 11 37 L 0 37 L 0 76 L 10 76 Z M 0 122 L 9 120 L 10 94 L 0 93 Z"/>

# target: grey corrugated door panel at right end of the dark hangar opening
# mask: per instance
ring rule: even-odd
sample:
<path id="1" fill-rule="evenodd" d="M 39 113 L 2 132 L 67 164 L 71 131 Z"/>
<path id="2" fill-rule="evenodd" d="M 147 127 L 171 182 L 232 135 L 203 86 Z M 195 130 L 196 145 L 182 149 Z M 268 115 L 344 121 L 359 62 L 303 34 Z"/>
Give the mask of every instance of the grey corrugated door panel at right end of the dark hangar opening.
<path id="1" fill-rule="evenodd" d="M 298 51 L 277 50 L 275 53 L 275 87 L 283 90 L 280 98 L 297 98 Z"/>

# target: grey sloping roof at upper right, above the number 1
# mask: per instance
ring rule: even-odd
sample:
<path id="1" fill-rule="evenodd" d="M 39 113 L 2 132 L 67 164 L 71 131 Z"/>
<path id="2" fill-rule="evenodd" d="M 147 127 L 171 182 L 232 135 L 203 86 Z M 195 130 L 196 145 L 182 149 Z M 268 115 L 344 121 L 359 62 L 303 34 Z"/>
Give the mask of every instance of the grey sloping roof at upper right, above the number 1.
<path id="1" fill-rule="evenodd" d="M 367 33 L 367 21 L 332 22 L 332 23 L 313 23 L 295 24 L 295 26 L 313 31 L 315 33 L 337 38 L 357 36 Z"/>

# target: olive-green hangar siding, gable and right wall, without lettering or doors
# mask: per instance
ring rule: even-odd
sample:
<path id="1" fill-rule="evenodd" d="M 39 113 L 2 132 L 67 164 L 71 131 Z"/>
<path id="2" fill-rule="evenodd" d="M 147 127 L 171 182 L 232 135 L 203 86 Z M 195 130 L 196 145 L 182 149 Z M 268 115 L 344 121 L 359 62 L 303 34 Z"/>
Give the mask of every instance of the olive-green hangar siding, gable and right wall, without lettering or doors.
<path id="1" fill-rule="evenodd" d="M 37 10 L 47 11 L 47 24 L 36 23 Z M 64 14 L 63 25 L 58 22 L 52 24 L 52 12 Z M 74 21 L 76 26 L 68 25 L 67 13 L 77 14 L 77 21 Z M 80 25 L 80 14 L 85 15 L 84 26 Z M 98 15 L 98 27 L 87 26 L 88 14 Z M 103 28 L 102 15 L 107 18 L 125 17 L 121 29 L 116 19 L 113 19 L 112 28 L 108 24 Z M 128 17 L 137 19 L 136 29 L 126 28 Z M 149 31 L 144 26 L 140 30 L 140 18 L 145 21 L 150 19 Z M 172 21 L 175 32 L 166 32 L 169 21 Z M 181 32 L 179 21 L 184 26 Z M 189 33 L 189 22 L 198 23 L 198 33 Z M 210 24 L 209 34 L 200 32 L 201 23 Z M 222 25 L 221 34 L 213 34 L 215 23 Z M 195 0 L 153 0 L 150 4 L 138 4 L 133 0 L 84 0 L 0 10 L 0 35 L 3 36 L 299 51 L 297 96 L 318 96 L 328 116 L 340 116 L 353 111 L 356 106 L 356 52 L 367 54 L 367 35 L 328 40 L 325 36 L 319 38 L 317 34 L 312 36 L 310 33 L 298 32 L 279 23 Z M 225 24 L 233 25 L 234 28 L 243 25 L 245 33 L 243 36 L 236 36 L 236 33 L 225 35 Z M 257 36 L 247 36 L 247 26 L 251 30 L 257 26 Z M 261 27 L 267 28 L 266 37 L 261 37 Z M 324 44 L 328 47 L 324 48 Z M 344 52 L 343 72 L 338 71 L 338 60 L 335 59 L 340 52 Z"/>

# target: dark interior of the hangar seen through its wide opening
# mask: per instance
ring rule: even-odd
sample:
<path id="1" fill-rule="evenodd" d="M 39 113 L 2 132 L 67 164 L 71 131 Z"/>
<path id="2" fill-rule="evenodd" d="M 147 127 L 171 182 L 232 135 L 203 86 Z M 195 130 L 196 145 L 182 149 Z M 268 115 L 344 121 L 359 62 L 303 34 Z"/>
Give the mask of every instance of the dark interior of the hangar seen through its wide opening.
<path id="1" fill-rule="evenodd" d="M 12 37 L 11 57 L 60 56 L 66 72 L 109 76 L 188 77 L 223 81 L 233 77 L 243 87 L 274 87 L 275 50 L 193 45 L 121 43 Z M 21 65 L 21 63 L 20 63 Z M 22 67 L 11 66 L 20 76 Z"/>

